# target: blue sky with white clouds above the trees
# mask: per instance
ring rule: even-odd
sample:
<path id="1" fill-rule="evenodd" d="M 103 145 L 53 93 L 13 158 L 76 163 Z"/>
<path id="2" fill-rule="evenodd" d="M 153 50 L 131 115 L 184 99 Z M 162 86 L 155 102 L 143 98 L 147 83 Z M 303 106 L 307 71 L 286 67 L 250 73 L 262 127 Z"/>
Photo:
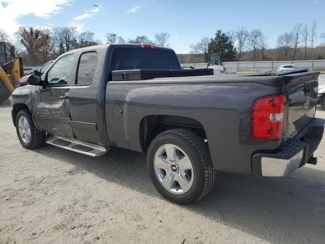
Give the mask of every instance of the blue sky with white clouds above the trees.
<path id="1" fill-rule="evenodd" d="M 317 45 L 325 42 L 319 38 L 325 32 L 325 0 L 0 0 L 0 31 L 12 38 L 19 26 L 76 26 L 103 43 L 107 33 L 154 40 L 155 33 L 167 32 L 177 53 L 188 53 L 190 44 L 214 37 L 217 29 L 236 31 L 240 26 L 261 29 L 269 47 L 275 47 L 277 37 L 297 22 L 311 25 L 314 20 Z"/>

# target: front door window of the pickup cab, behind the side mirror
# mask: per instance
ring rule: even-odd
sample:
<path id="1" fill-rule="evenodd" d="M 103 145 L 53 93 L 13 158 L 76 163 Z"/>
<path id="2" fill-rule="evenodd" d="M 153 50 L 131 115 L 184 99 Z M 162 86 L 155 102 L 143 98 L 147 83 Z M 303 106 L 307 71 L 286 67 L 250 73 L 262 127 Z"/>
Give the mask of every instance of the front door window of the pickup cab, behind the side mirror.
<path id="1" fill-rule="evenodd" d="M 60 58 L 47 73 L 47 85 L 72 85 L 72 68 L 74 55 Z"/>

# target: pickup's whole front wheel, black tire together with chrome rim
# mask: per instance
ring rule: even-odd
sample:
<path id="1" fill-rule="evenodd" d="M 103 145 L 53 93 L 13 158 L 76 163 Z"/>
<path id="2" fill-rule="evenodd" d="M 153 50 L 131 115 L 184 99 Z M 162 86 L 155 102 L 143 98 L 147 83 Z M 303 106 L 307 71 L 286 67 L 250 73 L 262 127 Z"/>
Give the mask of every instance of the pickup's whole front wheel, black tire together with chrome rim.
<path id="1" fill-rule="evenodd" d="M 16 131 L 23 147 L 33 149 L 44 145 L 46 133 L 35 127 L 28 109 L 22 109 L 18 112 Z"/>

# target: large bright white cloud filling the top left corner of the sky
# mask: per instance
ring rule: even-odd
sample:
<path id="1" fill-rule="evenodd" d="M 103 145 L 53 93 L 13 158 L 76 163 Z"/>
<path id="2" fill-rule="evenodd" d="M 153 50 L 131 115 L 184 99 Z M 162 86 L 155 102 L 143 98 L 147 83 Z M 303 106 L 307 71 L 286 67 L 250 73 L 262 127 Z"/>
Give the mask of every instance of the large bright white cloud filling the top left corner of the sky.
<path id="1" fill-rule="evenodd" d="M 58 14 L 64 6 L 70 6 L 74 0 L 0 0 L 0 29 L 3 29 L 9 36 L 18 31 L 19 18 L 27 15 L 34 15 L 48 19 Z"/>

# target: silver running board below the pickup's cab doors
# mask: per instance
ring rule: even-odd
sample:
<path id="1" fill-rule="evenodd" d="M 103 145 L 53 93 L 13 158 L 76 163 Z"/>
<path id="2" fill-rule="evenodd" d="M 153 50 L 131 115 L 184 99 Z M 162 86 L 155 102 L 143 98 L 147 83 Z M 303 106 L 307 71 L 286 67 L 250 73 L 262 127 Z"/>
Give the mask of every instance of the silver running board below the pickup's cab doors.
<path id="1" fill-rule="evenodd" d="M 105 155 L 110 149 L 109 147 L 77 141 L 61 136 L 53 136 L 51 134 L 47 134 L 45 142 L 53 146 L 57 146 L 70 151 L 75 151 L 76 153 L 84 154 L 94 158 Z"/>

